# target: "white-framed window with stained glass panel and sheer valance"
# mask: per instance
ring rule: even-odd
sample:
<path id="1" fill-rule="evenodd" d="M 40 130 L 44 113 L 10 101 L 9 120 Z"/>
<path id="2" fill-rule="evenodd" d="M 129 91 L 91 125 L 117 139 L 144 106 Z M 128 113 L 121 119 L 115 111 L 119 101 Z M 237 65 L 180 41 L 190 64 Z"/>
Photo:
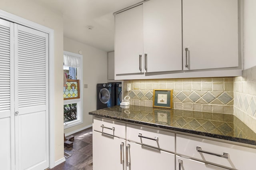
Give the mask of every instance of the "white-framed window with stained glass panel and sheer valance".
<path id="1" fill-rule="evenodd" d="M 82 123 L 82 55 L 64 51 L 63 70 L 67 82 L 63 87 L 64 128 Z"/>

